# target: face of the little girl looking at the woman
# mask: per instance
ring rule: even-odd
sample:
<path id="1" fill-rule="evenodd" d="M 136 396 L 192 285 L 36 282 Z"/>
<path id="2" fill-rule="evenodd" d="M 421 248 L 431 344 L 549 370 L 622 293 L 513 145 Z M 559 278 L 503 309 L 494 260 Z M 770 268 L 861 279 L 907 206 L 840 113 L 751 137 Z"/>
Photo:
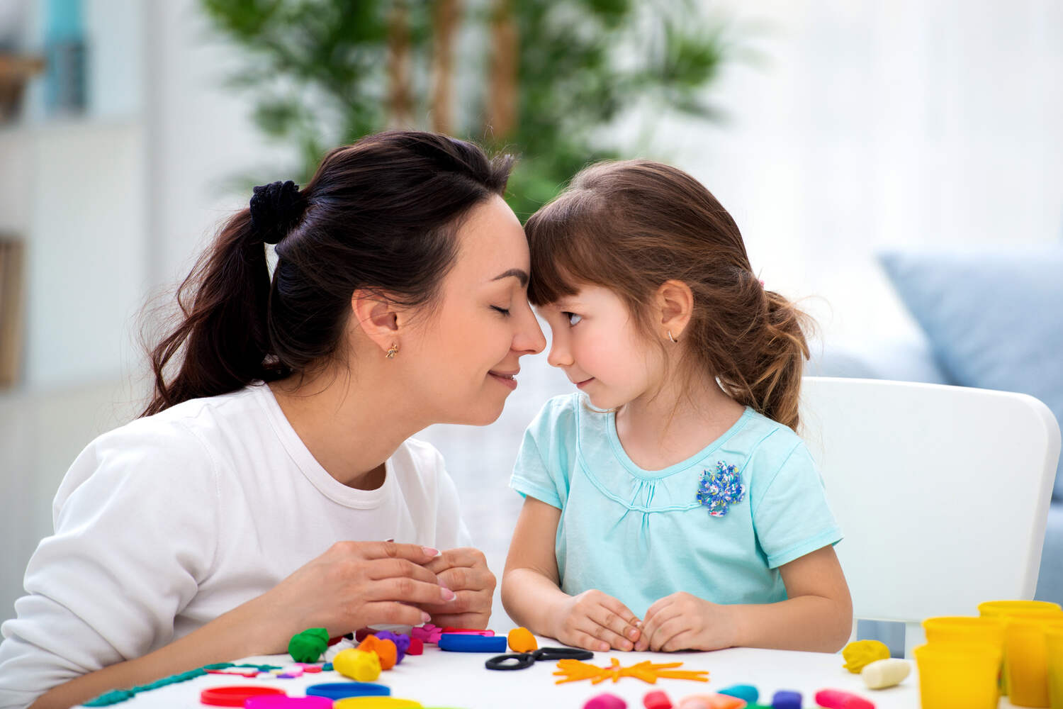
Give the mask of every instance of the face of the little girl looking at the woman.
<path id="1" fill-rule="evenodd" d="M 601 286 L 539 308 L 550 324 L 546 358 L 564 370 L 598 408 L 618 408 L 654 386 L 661 368 L 658 350 L 647 347 L 627 306 Z"/>

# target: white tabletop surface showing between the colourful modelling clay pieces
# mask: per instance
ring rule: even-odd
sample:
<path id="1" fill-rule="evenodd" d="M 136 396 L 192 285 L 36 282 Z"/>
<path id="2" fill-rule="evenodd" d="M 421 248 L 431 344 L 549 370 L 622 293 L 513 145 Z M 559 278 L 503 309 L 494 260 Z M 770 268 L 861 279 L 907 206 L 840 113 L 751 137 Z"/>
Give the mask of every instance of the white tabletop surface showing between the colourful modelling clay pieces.
<path id="1" fill-rule="evenodd" d="M 556 645 L 556 641 L 539 639 L 540 646 Z M 424 654 L 409 656 L 393 670 L 381 674 L 377 680 L 391 688 L 392 696 L 416 699 L 425 707 L 463 707 L 466 709 L 583 709 L 587 699 L 609 692 L 623 697 L 629 709 L 642 709 L 646 692 L 663 690 L 676 703 L 688 694 L 712 693 L 729 685 L 754 685 L 760 690 L 760 702 L 771 705 L 777 690 L 802 692 L 805 707 L 814 707 L 813 696 L 821 689 L 841 689 L 858 693 L 878 709 L 917 709 L 918 682 L 913 663 L 912 674 L 898 687 L 888 690 L 867 690 L 859 675 L 842 668 L 840 655 L 797 653 L 775 649 L 738 647 L 714 653 L 595 653 L 591 663 L 607 666 L 615 657 L 623 666 L 643 660 L 652 662 L 678 662 L 681 670 L 708 670 L 709 682 L 681 679 L 660 679 L 647 685 L 634 677 L 619 682 L 589 681 L 555 685 L 553 676 L 556 662 L 537 662 L 526 670 L 496 672 L 484 668 L 491 654 L 448 653 L 435 645 L 426 645 Z M 248 658 L 247 662 L 263 664 L 290 664 L 287 655 Z M 230 685 L 256 685 L 284 689 L 290 696 L 301 696 L 305 688 L 326 681 L 344 681 L 336 673 L 304 674 L 294 679 L 276 679 L 259 676 L 243 678 L 207 675 L 180 685 L 137 694 L 134 698 L 114 705 L 115 709 L 156 709 L 203 707 L 200 692 L 208 687 Z M 1010 706 L 1001 702 L 1001 706 Z"/>

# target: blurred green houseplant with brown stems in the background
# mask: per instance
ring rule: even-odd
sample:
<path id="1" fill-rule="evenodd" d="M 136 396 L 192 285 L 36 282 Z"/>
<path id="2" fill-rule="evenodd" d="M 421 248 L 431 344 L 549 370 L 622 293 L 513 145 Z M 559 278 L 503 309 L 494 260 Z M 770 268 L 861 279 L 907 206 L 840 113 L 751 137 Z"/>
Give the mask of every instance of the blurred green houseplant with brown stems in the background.
<path id="1" fill-rule="evenodd" d="M 305 181 L 332 146 L 385 128 L 434 130 L 521 156 L 508 200 L 526 217 L 602 138 L 653 102 L 702 102 L 727 53 L 723 26 L 657 0 L 201 0 L 247 56 L 232 77 L 254 120 L 298 150 Z"/>

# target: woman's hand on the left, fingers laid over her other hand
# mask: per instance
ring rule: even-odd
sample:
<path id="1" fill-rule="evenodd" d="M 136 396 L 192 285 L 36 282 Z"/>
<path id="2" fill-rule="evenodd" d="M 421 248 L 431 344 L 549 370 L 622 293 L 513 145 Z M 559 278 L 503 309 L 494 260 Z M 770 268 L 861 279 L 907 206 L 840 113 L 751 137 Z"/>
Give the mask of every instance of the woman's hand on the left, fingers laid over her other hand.
<path id="1" fill-rule="evenodd" d="M 283 652 L 288 639 L 306 628 L 323 627 L 336 637 L 379 623 L 426 622 L 428 614 L 418 605 L 455 597 L 425 568 L 437 554 L 419 544 L 336 542 L 251 602 L 265 606 L 261 618 L 276 619 L 281 626 L 273 628 L 277 635 L 264 652 Z"/>

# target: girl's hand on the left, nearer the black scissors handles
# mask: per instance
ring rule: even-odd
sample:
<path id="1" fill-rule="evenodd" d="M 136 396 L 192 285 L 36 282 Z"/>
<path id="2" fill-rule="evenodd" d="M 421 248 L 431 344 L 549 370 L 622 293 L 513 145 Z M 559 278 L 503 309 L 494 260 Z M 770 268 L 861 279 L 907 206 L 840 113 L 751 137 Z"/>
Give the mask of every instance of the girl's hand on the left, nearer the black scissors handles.
<path id="1" fill-rule="evenodd" d="M 639 619 L 627 606 L 596 589 L 569 596 L 556 613 L 550 634 L 566 645 L 604 653 L 632 649 L 639 639 Z"/>

